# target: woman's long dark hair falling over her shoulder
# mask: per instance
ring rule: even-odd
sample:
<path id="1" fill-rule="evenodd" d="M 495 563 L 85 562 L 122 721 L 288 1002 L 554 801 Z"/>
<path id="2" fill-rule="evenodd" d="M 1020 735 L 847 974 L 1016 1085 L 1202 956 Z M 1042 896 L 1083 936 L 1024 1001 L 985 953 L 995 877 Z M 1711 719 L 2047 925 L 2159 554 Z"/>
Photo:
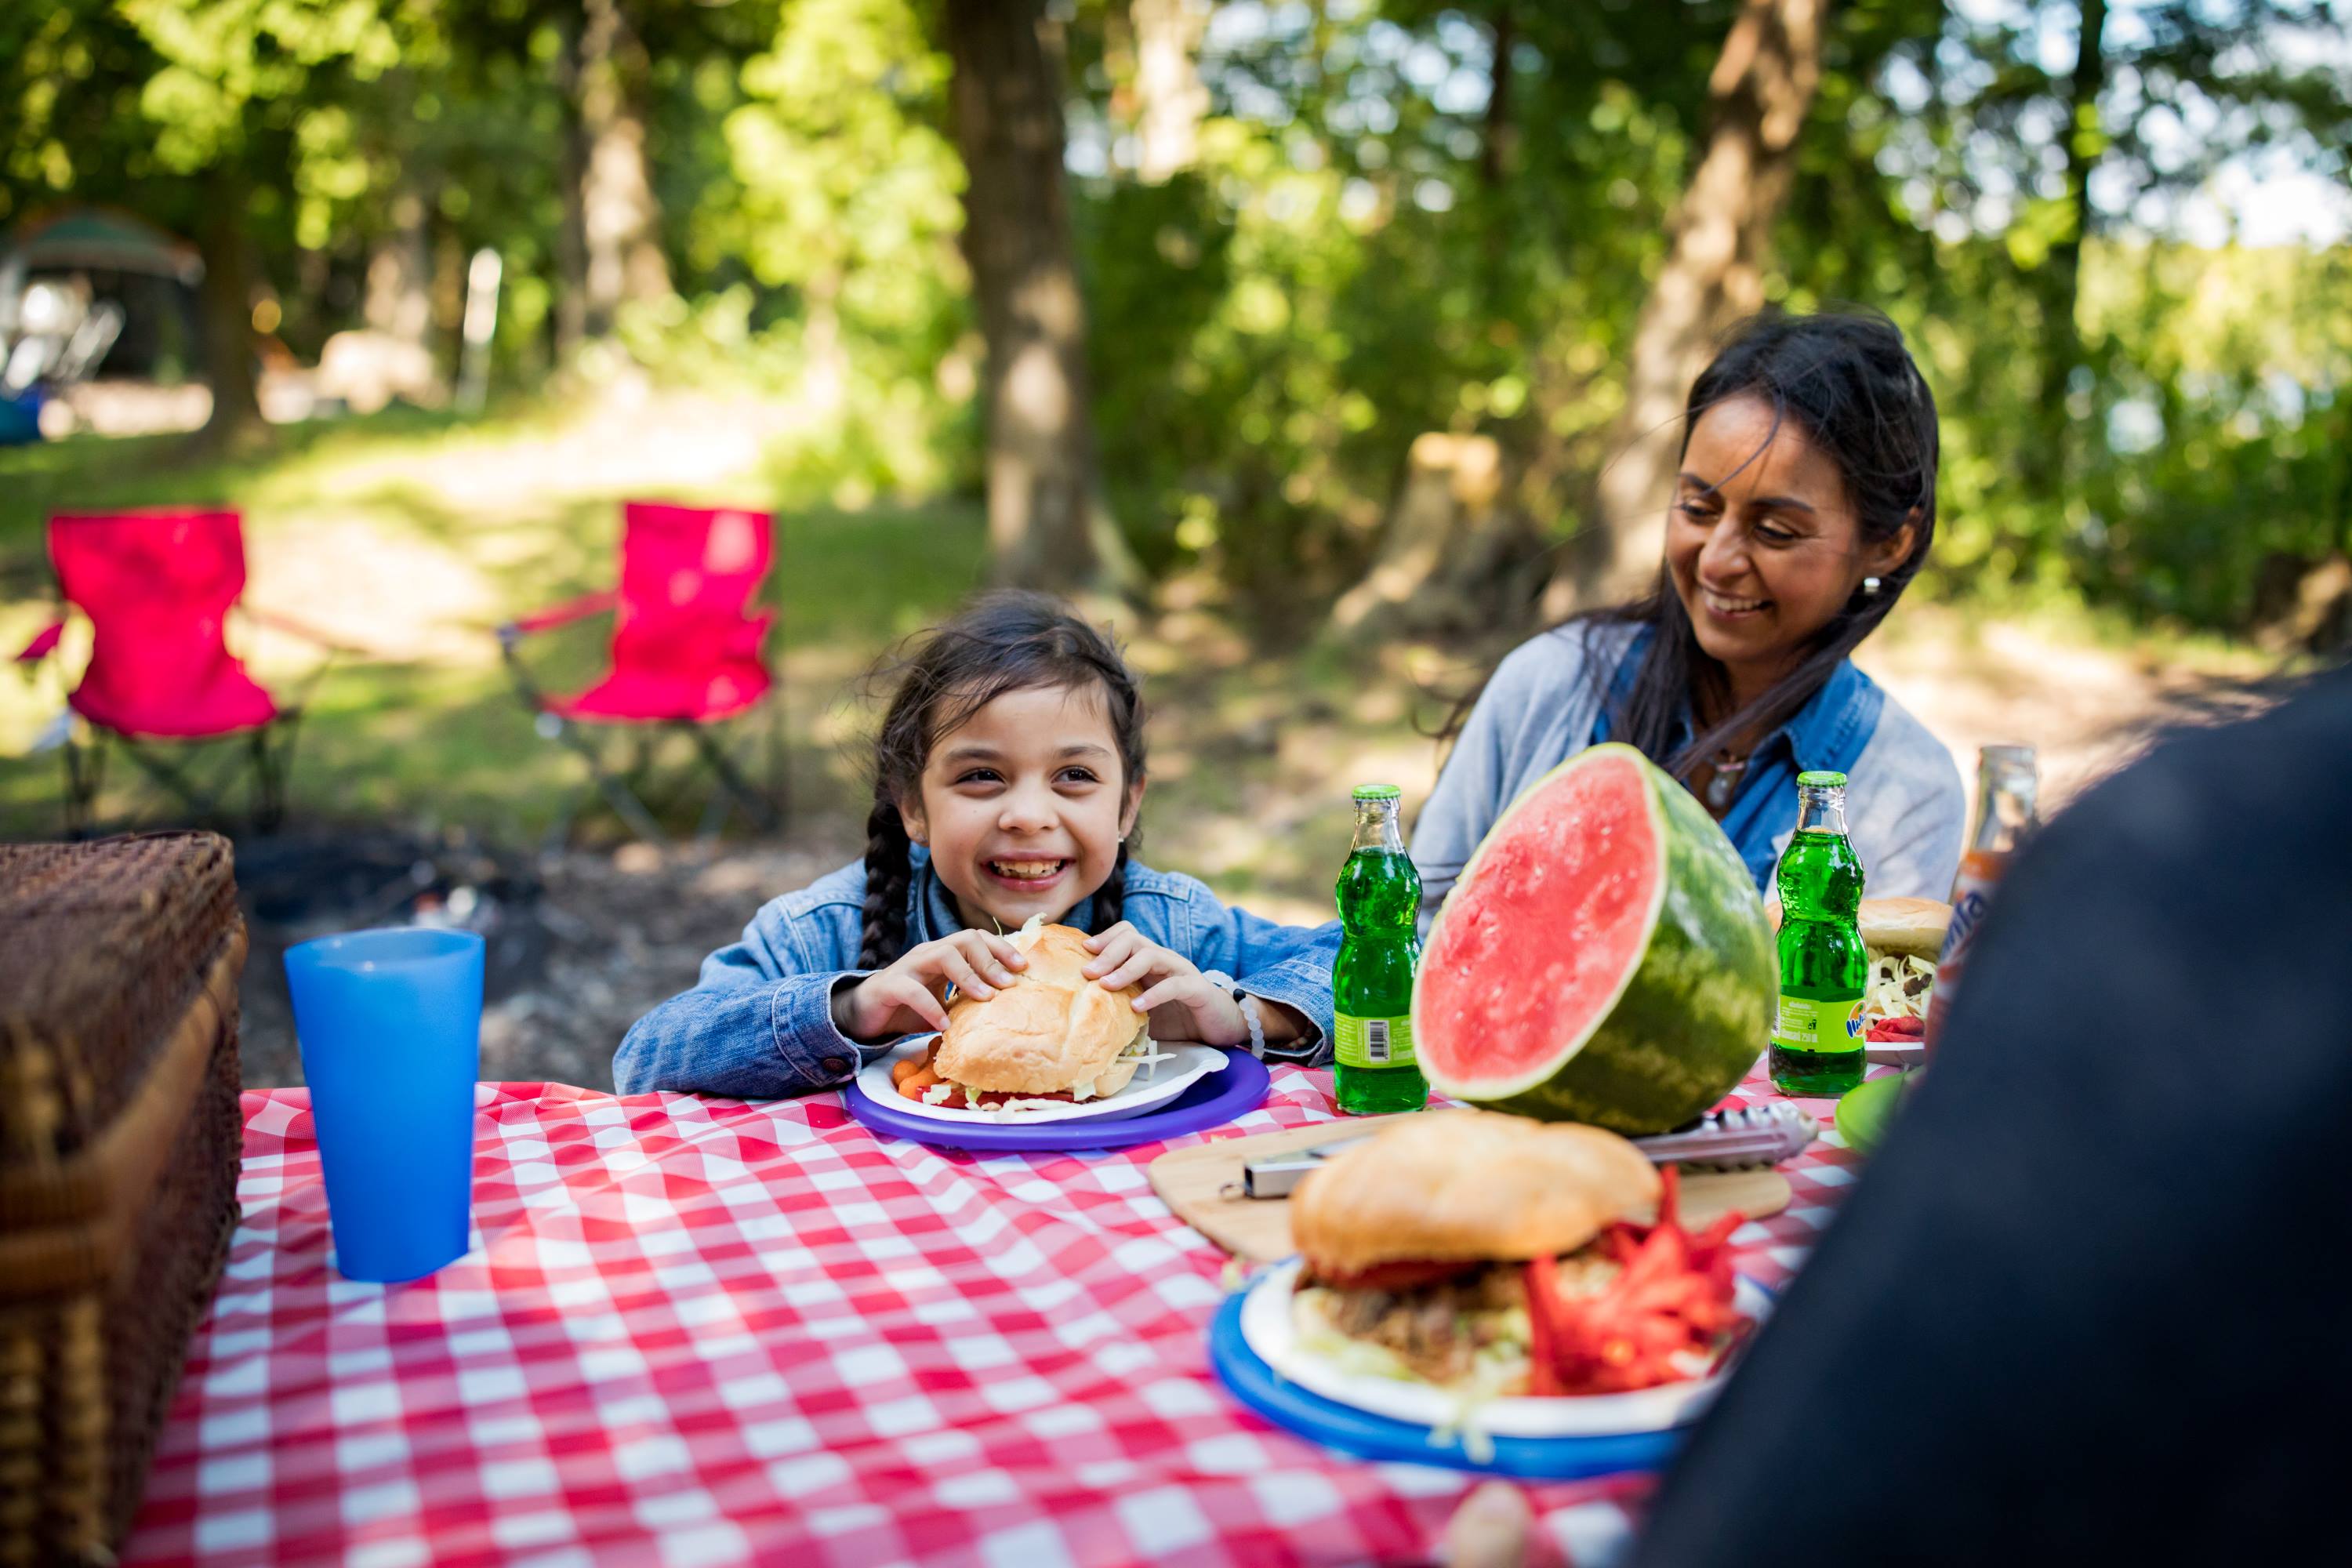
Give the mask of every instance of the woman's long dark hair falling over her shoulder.
<path id="1" fill-rule="evenodd" d="M 1797 665 L 1762 696 L 1719 717 L 1675 745 L 1689 715 L 1696 726 L 1700 703 L 1729 703 L 1724 668 L 1698 646 L 1691 614 L 1675 592 L 1668 567 L 1642 599 L 1571 616 L 1552 635 L 1588 635 L 1602 625 L 1646 625 L 1651 639 L 1642 668 L 1623 698 L 1611 698 L 1616 677 L 1606 661 L 1588 661 L 1609 712 L 1609 733 L 1635 745 L 1675 778 L 1712 757 L 1740 733 L 1771 733 L 1820 691 L 1830 672 L 1877 630 L 1886 611 L 1926 562 L 1936 538 L 1936 395 L 1903 346 L 1903 334 L 1875 310 L 1783 315 L 1769 310 L 1731 329 L 1715 362 L 1691 383 L 1682 414 L 1682 449 L 1708 409 L 1733 397 L 1762 397 L 1773 409 L 1773 430 L 1797 425 L 1813 447 L 1837 463 L 1865 545 L 1884 543 L 1912 524 L 1910 555 L 1879 576 L 1877 592 L 1853 597 L 1813 632 Z M 1762 451 L 1750 458 L 1759 461 Z M 1590 642 L 1588 642 L 1590 646 Z M 1472 693 L 1475 701 L 1477 693 Z M 1465 701 L 1451 729 L 1468 715 Z"/>

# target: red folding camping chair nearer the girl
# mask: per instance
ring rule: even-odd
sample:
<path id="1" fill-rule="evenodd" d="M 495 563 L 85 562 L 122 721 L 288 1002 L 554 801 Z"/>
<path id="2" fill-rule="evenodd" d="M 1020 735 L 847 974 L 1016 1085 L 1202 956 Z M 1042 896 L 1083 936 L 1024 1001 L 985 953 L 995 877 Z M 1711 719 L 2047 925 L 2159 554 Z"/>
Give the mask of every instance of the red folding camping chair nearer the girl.
<path id="1" fill-rule="evenodd" d="M 762 827 L 783 820 L 720 745 L 715 726 L 750 712 L 774 686 L 760 644 L 774 616 L 748 614 L 774 552 L 767 512 L 708 510 L 630 501 L 621 527 L 621 588 L 593 592 L 499 628 L 499 651 L 522 701 L 539 712 L 539 733 L 564 741 L 588 762 L 604 802 L 637 837 L 659 844 L 654 811 L 637 799 L 656 729 L 694 741 L 717 788 L 703 809 L 703 835 L 717 830 L 729 804 L 741 804 Z M 586 616 L 614 611 L 612 668 L 574 696 L 546 696 L 522 663 L 522 639 Z M 635 762 L 616 776 L 586 724 L 635 729 Z M 574 795 L 574 802 L 579 797 Z M 557 837 L 569 827 L 567 802 Z"/>

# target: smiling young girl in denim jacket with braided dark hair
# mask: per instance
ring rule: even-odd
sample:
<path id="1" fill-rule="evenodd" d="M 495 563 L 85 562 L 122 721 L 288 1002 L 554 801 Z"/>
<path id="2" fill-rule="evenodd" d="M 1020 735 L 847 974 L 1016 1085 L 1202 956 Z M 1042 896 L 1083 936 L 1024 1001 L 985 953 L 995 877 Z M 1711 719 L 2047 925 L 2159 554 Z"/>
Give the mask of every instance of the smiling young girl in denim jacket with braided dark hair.
<path id="1" fill-rule="evenodd" d="M 762 907 L 694 990 L 640 1018 L 621 1093 L 767 1100 L 837 1088 L 906 1034 L 990 997 L 1033 914 L 1094 936 L 1087 973 L 1155 1039 L 1329 1058 L 1338 924 L 1279 926 L 1127 858 L 1143 698 L 1120 651 L 1054 599 L 997 592 L 906 663 L 875 748 L 866 860 Z"/>

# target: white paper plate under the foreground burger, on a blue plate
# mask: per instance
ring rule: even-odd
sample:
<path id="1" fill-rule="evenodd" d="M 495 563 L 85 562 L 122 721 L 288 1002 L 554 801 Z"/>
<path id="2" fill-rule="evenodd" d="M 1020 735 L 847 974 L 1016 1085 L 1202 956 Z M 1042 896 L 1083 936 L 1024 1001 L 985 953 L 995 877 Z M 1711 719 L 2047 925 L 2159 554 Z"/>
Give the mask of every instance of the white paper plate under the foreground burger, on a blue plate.
<path id="1" fill-rule="evenodd" d="M 1242 1302 L 1242 1340 L 1258 1356 L 1310 1394 L 1421 1427 L 1458 1427 L 1461 1401 L 1423 1382 L 1374 1378 L 1334 1366 L 1298 1342 L 1291 1324 L 1291 1291 L 1298 1288 L 1303 1260 L 1289 1258 L 1258 1276 Z M 1771 1295 L 1764 1286 L 1740 1279 L 1733 1298 L 1740 1312 L 1764 1321 Z M 1698 1413 L 1722 1387 L 1726 1366 L 1693 1382 L 1670 1382 L 1635 1394 L 1576 1394 L 1559 1399 L 1489 1399 L 1477 1406 L 1472 1425 L 1489 1436 L 1621 1436 L 1628 1432 L 1665 1432 L 1698 1420 Z"/>

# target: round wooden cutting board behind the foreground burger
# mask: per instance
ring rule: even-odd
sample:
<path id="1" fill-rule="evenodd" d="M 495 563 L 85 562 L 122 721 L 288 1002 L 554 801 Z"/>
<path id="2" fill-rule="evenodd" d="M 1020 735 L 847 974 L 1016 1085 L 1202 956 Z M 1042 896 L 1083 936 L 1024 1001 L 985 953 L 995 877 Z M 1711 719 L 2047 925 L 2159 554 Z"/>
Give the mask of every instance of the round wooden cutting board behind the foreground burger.
<path id="1" fill-rule="evenodd" d="M 1319 1143 L 1362 1138 L 1397 1117 L 1319 1121 L 1284 1133 L 1254 1138 L 1218 1138 L 1190 1150 L 1174 1150 L 1150 1164 L 1152 1192 L 1178 1220 L 1216 1241 L 1242 1262 L 1277 1262 L 1289 1258 L 1289 1199 L 1242 1197 L 1242 1166 L 1272 1154 L 1312 1150 Z M 1717 1215 L 1738 1208 L 1750 1220 L 1788 1208 L 1788 1178 L 1778 1171 L 1686 1171 L 1682 1175 L 1682 1222 L 1691 1229 L 1712 1225 Z M 1649 1220 L 1651 1215 L 1639 1215 Z"/>

